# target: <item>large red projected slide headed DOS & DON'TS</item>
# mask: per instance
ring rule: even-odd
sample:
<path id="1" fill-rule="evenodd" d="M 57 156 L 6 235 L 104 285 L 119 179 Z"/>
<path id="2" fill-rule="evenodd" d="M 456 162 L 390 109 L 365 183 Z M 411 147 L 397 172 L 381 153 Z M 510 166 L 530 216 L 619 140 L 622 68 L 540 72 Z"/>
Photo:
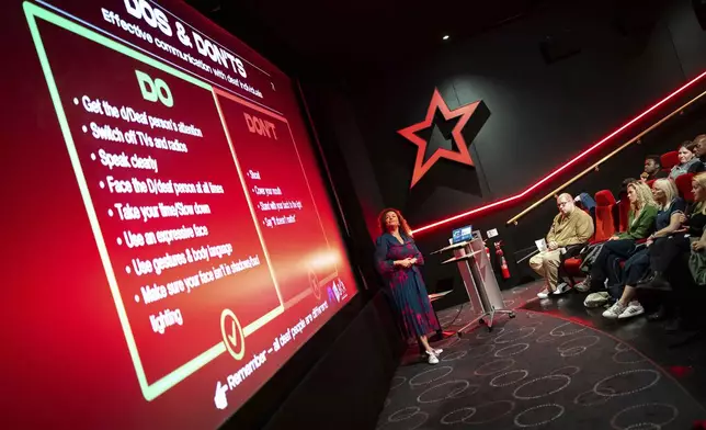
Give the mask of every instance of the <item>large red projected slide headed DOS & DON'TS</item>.
<path id="1" fill-rule="evenodd" d="M 9 428 L 210 429 L 356 293 L 293 82 L 178 1 L 7 1 Z"/>

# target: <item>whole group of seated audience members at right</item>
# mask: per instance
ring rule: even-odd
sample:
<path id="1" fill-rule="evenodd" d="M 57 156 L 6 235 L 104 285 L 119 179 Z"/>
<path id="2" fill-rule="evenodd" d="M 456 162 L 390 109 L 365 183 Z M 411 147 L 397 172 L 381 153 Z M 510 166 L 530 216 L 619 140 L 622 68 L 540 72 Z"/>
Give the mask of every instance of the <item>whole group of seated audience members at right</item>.
<path id="1" fill-rule="evenodd" d="M 626 184 L 629 213 L 624 231 L 606 241 L 591 242 L 594 219 L 576 206 L 571 195 L 557 197 L 559 214 L 547 234 L 546 249 L 530 260 L 532 269 L 545 280 L 540 298 L 576 287 L 590 293 L 587 307 L 610 304 L 603 313 L 605 318 L 626 319 L 645 314 L 644 296 L 652 298 L 659 292 L 657 312 L 648 317 L 661 319 L 671 310 L 674 318 L 669 328 L 683 326 L 679 305 L 686 299 L 690 285 L 696 284 L 688 258 L 706 251 L 706 135 L 683 143 L 677 157 L 679 162 L 670 170 L 662 168 L 664 157 L 647 157 L 641 180 Z M 693 196 L 680 196 L 674 183 L 684 174 L 692 178 Z M 573 282 L 565 264 L 577 256 L 588 272 L 579 283 Z"/>

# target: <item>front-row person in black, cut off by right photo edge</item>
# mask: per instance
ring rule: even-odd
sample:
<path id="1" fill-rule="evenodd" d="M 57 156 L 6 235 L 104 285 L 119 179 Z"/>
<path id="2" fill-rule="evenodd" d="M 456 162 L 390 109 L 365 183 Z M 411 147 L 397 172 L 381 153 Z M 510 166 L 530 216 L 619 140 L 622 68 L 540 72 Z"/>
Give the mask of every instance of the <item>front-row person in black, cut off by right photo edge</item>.
<path id="1" fill-rule="evenodd" d="M 673 234 L 669 240 L 659 240 L 652 244 L 650 247 L 652 273 L 639 284 L 657 290 L 669 290 L 670 284 L 664 276 L 665 271 L 677 257 L 691 252 L 690 237 L 697 238 L 704 234 L 704 226 L 706 226 L 706 172 L 694 177 L 692 191 L 694 203 L 687 208 L 685 215 L 680 216 L 682 229 Z"/>

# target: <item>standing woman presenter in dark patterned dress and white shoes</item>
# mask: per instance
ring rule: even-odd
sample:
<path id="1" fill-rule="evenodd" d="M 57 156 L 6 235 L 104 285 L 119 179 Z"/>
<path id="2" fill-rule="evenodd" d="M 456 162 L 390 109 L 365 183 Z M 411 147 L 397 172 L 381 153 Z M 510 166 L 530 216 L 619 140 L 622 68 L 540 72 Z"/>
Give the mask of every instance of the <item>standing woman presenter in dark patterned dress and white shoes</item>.
<path id="1" fill-rule="evenodd" d="M 432 348 L 426 336 L 441 330 L 441 326 L 419 270 L 424 258 L 398 210 L 380 212 L 378 224 L 382 235 L 375 241 L 375 262 L 391 293 L 402 331 L 408 339 L 420 342 L 430 364 L 437 364 L 443 350 Z"/>

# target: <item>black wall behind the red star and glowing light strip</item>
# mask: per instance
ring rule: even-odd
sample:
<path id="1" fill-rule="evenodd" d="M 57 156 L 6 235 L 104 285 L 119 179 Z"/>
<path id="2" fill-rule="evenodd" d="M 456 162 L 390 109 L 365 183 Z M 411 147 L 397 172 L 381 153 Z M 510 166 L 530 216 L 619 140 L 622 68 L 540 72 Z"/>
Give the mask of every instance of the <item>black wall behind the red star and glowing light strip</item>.
<path id="1" fill-rule="evenodd" d="M 335 99 L 329 114 L 315 121 L 330 129 L 324 145 L 341 148 L 354 182 L 362 183 L 355 199 L 364 216 L 372 219 L 382 207 L 395 206 L 419 227 L 516 194 L 706 69 L 706 33 L 691 1 L 622 10 L 612 3 L 553 7 L 403 63 L 355 70 L 328 91 L 309 92 L 322 105 Z M 548 64 L 539 50 L 547 36 L 555 46 L 580 52 Z M 424 118 L 434 88 L 452 110 L 482 100 L 491 114 L 470 145 L 475 168 L 442 160 L 410 190 L 417 147 L 396 132 Z M 539 191 L 550 191 L 704 89 L 701 83 L 664 104 Z M 337 92 L 342 97 L 332 98 Z M 639 176 L 646 154 L 675 148 L 706 131 L 703 116 L 690 111 L 569 191 L 617 191 L 622 179 Z M 497 227 L 515 274 L 504 285 L 514 284 L 526 273 L 514 268 L 514 252 L 545 235 L 556 207 L 546 203 L 517 227 L 505 228 L 505 222 L 538 196 L 422 233 L 417 240 L 430 252 L 447 244 L 454 227 L 474 224 L 483 233 Z M 436 260 L 430 258 L 425 269 L 430 290 L 448 279 L 459 285 L 455 268 L 440 268 Z"/>

